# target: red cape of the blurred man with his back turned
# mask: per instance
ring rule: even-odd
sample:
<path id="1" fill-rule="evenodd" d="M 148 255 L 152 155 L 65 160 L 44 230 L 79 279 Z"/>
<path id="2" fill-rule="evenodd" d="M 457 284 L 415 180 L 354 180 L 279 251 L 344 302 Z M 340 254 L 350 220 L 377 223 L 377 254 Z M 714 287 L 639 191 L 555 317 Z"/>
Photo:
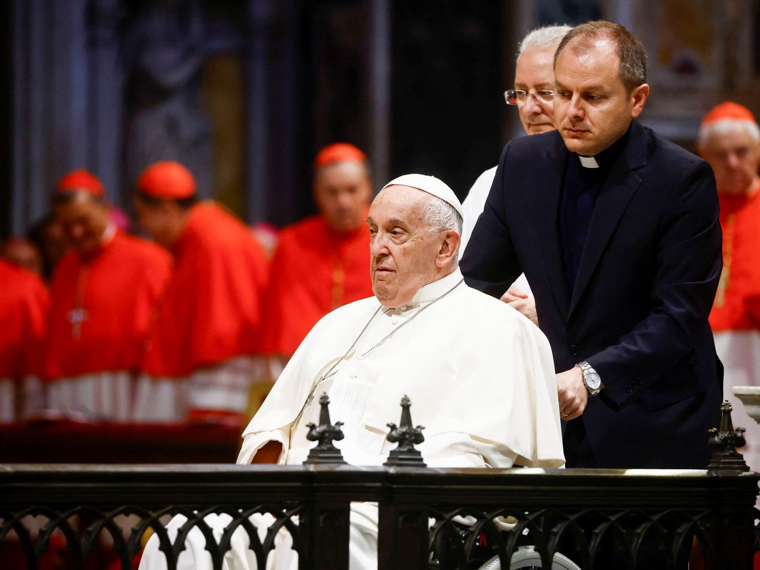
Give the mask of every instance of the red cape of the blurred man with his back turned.
<path id="1" fill-rule="evenodd" d="M 252 231 L 200 204 L 179 243 L 144 372 L 182 377 L 201 366 L 261 353 L 268 259 Z"/>

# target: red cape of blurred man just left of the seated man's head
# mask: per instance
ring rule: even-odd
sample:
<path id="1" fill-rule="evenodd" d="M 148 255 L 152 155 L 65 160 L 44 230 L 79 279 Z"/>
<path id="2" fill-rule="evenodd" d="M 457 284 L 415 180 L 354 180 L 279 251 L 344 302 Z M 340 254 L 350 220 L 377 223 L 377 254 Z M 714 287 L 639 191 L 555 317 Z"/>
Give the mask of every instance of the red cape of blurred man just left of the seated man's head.
<path id="1" fill-rule="evenodd" d="M 287 226 L 272 259 L 266 352 L 293 356 L 320 318 L 369 296 L 372 279 L 365 226 L 338 232 L 321 216 Z"/>

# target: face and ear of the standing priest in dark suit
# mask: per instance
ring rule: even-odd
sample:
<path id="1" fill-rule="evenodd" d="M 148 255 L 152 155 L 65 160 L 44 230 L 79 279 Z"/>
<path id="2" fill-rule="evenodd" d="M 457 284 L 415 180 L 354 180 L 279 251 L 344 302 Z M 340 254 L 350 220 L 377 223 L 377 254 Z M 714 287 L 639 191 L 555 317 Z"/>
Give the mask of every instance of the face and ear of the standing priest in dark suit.
<path id="1" fill-rule="evenodd" d="M 554 69 L 554 116 L 565 146 L 592 157 L 619 139 L 644 109 L 647 84 L 631 94 L 619 76 L 615 43 L 596 40 L 575 51 L 572 43 L 559 52 Z"/>

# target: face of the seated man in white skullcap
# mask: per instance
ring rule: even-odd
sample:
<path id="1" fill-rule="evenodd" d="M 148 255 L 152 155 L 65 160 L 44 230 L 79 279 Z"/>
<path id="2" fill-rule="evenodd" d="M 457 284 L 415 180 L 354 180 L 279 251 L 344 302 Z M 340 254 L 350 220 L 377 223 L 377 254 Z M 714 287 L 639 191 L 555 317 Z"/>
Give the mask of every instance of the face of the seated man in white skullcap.
<path id="1" fill-rule="evenodd" d="M 384 188 L 369 208 L 372 290 L 386 307 L 410 302 L 436 278 L 435 256 L 445 232 L 432 231 L 424 217 L 430 195 L 417 188 Z"/>

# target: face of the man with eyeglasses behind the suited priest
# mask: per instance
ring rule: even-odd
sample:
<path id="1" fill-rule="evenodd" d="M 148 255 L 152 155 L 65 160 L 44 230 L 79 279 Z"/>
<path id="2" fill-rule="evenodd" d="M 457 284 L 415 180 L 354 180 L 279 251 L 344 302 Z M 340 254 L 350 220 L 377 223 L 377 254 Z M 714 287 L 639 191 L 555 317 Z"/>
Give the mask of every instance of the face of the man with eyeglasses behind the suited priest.
<path id="1" fill-rule="evenodd" d="M 518 101 L 520 121 L 528 135 L 554 130 L 553 101 L 539 96 L 554 89 L 554 50 L 527 49 L 515 68 L 515 89 L 528 93 L 524 102 Z"/>

